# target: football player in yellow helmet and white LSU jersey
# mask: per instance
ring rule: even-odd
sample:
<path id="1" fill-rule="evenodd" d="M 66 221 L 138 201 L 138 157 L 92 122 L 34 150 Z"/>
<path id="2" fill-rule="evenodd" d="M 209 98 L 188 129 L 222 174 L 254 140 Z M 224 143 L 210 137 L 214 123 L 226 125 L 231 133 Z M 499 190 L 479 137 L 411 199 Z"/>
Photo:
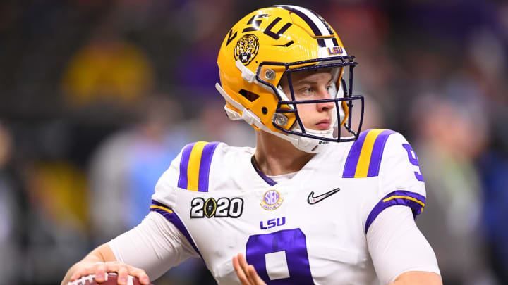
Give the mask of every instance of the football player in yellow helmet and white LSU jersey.
<path id="1" fill-rule="evenodd" d="M 147 284 L 188 258 L 219 284 L 442 284 L 414 221 L 425 206 L 416 153 L 397 132 L 360 132 L 358 63 L 323 18 L 254 11 L 226 33 L 217 63 L 226 114 L 255 129 L 256 147 L 185 146 L 145 220 L 63 284 L 105 272 Z"/>

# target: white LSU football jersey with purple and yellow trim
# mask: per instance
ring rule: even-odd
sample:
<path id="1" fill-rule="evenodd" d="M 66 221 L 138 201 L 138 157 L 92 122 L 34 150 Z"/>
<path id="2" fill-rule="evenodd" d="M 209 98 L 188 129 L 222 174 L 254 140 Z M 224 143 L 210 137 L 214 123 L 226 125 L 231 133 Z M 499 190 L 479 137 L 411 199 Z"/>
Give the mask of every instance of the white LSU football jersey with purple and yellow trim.
<path id="1" fill-rule="evenodd" d="M 425 205 L 418 159 L 404 137 L 370 129 L 329 144 L 275 183 L 253 148 L 189 144 L 159 179 L 150 210 L 188 239 L 219 284 L 238 284 L 243 253 L 267 284 L 371 284 L 366 233 L 382 210 Z"/>

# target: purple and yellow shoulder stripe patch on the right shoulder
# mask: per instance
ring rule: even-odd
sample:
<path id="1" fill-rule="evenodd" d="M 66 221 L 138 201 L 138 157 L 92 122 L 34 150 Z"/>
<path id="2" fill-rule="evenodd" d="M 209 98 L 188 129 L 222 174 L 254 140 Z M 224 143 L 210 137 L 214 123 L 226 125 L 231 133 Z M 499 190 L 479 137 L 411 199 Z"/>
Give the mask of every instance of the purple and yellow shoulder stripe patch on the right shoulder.
<path id="1" fill-rule="evenodd" d="M 364 178 L 379 175 L 382 153 L 391 134 L 390 129 L 368 129 L 358 136 L 349 150 L 343 178 Z"/>

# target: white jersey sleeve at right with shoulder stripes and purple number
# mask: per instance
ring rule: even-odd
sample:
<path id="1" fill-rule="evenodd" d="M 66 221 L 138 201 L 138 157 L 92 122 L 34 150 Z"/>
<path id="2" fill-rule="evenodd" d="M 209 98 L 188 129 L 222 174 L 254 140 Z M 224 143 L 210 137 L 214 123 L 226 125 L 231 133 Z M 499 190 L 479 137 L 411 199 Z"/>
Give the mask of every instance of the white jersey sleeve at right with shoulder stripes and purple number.
<path id="1" fill-rule="evenodd" d="M 375 218 L 392 205 L 411 208 L 415 218 L 425 206 L 425 182 L 418 157 L 398 132 L 389 129 L 362 132 L 351 146 L 343 177 L 377 182 L 366 199 L 365 233 Z"/>

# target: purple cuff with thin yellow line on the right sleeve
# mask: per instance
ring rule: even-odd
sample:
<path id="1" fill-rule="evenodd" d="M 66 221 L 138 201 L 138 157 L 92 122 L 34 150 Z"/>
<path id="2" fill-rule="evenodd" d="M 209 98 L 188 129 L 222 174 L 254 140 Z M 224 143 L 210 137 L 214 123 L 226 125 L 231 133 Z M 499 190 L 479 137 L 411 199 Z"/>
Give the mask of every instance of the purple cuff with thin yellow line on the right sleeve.
<path id="1" fill-rule="evenodd" d="M 410 191 L 393 191 L 392 193 L 388 194 L 387 196 L 383 197 L 373 208 L 373 210 L 370 211 L 370 214 L 367 217 L 367 221 L 365 222 L 365 234 L 367 234 L 368 228 L 370 227 L 370 224 L 372 224 L 377 217 L 383 210 L 385 210 L 388 207 L 391 207 L 392 205 L 406 205 L 409 208 L 413 210 L 413 217 L 416 219 L 416 216 L 421 214 L 421 211 L 423 209 L 423 206 L 420 203 L 417 203 L 416 201 L 409 200 L 407 198 L 394 198 L 392 200 L 383 202 L 386 198 L 392 197 L 392 196 L 409 196 L 411 198 L 415 198 L 418 201 L 421 201 L 423 204 L 425 204 L 425 196 L 421 196 L 420 194 L 410 192 Z"/>

